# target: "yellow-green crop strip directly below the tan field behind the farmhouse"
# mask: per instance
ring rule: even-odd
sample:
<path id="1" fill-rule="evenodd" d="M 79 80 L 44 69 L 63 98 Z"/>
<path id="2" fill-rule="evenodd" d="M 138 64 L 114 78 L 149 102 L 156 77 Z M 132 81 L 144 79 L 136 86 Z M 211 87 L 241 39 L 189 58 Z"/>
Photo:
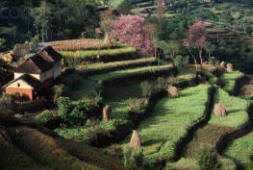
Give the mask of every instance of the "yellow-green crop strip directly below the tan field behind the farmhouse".
<path id="1" fill-rule="evenodd" d="M 88 50 L 88 51 L 60 51 L 59 53 L 65 57 L 77 57 L 77 58 L 94 58 L 98 55 L 102 56 L 115 56 L 124 55 L 129 53 L 135 53 L 136 49 L 133 47 L 122 47 L 118 49 L 105 49 L 105 50 Z"/>

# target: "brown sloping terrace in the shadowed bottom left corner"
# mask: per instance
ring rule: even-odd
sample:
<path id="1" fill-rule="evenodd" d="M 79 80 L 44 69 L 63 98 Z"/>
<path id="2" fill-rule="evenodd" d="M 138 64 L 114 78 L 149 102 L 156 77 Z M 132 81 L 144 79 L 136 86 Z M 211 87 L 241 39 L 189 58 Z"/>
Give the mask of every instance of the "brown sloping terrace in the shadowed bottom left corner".
<path id="1" fill-rule="evenodd" d="M 50 169 L 90 169 L 99 170 L 99 168 L 90 163 L 83 162 L 78 158 L 69 154 L 66 150 L 59 146 L 57 141 L 41 132 L 26 128 L 16 127 L 11 129 L 13 135 L 18 131 L 15 136 L 15 143 L 18 143 L 26 153 L 31 155 L 37 162 L 46 165 Z"/>

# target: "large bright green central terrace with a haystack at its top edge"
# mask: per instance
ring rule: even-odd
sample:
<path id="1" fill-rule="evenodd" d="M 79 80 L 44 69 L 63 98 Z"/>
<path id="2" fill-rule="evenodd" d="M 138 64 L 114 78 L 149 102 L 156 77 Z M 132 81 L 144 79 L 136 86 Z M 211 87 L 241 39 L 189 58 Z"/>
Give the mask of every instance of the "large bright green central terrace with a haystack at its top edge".
<path id="1" fill-rule="evenodd" d="M 186 135 L 187 129 L 203 116 L 208 88 L 207 85 L 188 88 L 180 92 L 179 98 L 164 98 L 156 105 L 152 115 L 137 129 L 148 159 L 173 156 L 175 144 Z M 184 107 L 181 107 L 182 103 Z"/>

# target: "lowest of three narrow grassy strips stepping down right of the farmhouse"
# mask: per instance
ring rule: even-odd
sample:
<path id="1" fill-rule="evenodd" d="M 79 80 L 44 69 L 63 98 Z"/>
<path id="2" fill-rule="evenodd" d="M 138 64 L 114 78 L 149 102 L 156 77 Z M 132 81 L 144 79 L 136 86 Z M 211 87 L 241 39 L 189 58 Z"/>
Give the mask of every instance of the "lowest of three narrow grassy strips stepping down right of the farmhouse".
<path id="1" fill-rule="evenodd" d="M 117 78 L 123 78 L 127 76 L 137 76 L 137 75 L 145 75 L 149 73 L 159 73 L 164 71 L 170 71 L 173 68 L 172 64 L 168 65 L 161 65 L 161 66 L 148 66 L 148 67 L 140 67 L 135 69 L 128 69 L 128 70 L 120 70 L 109 72 L 106 74 L 99 74 L 95 76 L 89 77 L 91 80 L 96 81 L 109 81 Z"/>

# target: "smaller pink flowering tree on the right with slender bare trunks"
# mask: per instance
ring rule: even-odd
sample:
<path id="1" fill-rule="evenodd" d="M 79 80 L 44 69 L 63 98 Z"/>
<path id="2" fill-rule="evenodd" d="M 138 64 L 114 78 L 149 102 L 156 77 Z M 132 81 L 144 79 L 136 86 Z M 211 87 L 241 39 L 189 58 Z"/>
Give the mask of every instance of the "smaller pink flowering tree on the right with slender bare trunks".
<path id="1" fill-rule="evenodd" d="M 188 48 L 194 48 L 199 51 L 200 64 L 203 64 L 203 49 L 206 46 L 207 32 L 202 21 L 196 22 L 189 28 L 189 37 L 186 42 Z M 195 64 L 196 59 L 194 58 Z"/>

